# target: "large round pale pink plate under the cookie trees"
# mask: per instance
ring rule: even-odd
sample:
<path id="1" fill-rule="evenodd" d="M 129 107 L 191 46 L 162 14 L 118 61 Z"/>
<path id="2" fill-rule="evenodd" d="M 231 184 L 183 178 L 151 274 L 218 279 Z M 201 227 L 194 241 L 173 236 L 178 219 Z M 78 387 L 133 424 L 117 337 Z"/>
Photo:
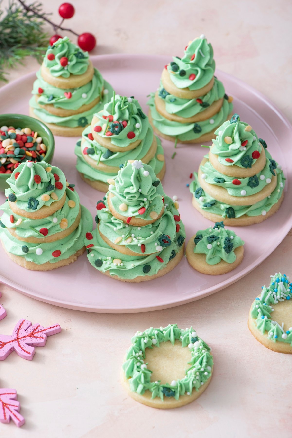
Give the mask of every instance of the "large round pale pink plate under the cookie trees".
<path id="1" fill-rule="evenodd" d="M 147 111 L 147 95 L 156 90 L 162 68 L 169 57 L 137 55 L 103 55 L 92 57 L 95 67 L 116 92 L 134 95 Z M 250 123 L 258 136 L 264 138 L 274 159 L 283 166 L 288 182 L 291 177 L 292 127 L 283 114 L 262 94 L 227 73 L 217 71 L 227 94 L 234 96 L 234 112 Z M 28 100 L 35 74 L 28 74 L 0 89 L 1 113 L 28 114 Z M 76 183 L 81 202 L 95 215 L 96 201 L 101 197 L 85 184 L 75 170 L 74 145 L 76 138 L 56 137 L 53 160 L 71 183 Z M 197 170 L 206 149 L 200 146 L 178 145 L 176 157 L 171 159 L 174 145 L 163 140 L 166 175 L 163 187 L 169 196 L 179 198 L 179 212 L 186 226 L 188 240 L 197 230 L 207 228 L 204 219 L 191 205 L 191 194 L 186 184 L 190 173 Z M 103 196 L 103 195 L 102 195 Z M 0 194 L 4 201 L 4 194 Z M 1 247 L 0 280 L 37 300 L 71 309 L 128 313 L 157 310 L 188 303 L 229 286 L 256 268 L 284 239 L 292 226 L 292 191 L 286 182 L 285 198 L 279 212 L 261 224 L 236 227 L 245 240 L 244 259 L 229 274 L 208 276 L 194 271 L 184 258 L 166 276 L 139 284 L 122 283 L 103 276 L 87 261 L 85 254 L 64 268 L 49 272 L 27 271 L 13 263 Z"/>

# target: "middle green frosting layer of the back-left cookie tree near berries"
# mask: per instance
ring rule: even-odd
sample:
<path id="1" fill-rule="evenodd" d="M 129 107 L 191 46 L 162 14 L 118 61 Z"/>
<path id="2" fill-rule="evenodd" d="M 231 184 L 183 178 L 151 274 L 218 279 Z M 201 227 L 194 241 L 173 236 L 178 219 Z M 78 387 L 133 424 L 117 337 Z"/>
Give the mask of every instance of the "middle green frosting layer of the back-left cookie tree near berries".
<path id="1" fill-rule="evenodd" d="M 44 81 L 40 71 L 36 73 L 37 79 L 33 83 L 32 94 L 39 95 L 39 88 L 43 92 L 38 99 L 39 105 L 53 105 L 55 108 L 76 110 L 83 105 L 88 105 L 102 94 L 104 80 L 101 73 L 95 68 L 91 81 L 78 88 L 57 88 Z M 68 97 L 70 93 L 70 97 Z M 67 95 L 67 97 L 66 97 Z"/>

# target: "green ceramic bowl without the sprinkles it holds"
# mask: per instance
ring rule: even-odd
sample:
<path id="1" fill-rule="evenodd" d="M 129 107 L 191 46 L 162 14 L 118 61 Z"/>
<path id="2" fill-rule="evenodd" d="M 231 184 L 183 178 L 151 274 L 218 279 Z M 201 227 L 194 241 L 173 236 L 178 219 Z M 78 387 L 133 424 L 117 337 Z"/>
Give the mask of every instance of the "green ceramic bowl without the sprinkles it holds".
<path id="1" fill-rule="evenodd" d="M 46 155 L 43 160 L 48 163 L 52 161 L 55 150 L 54 136 L 49 128 L 40 120 L 36 120 L 30 116 L 24 116 L 23 114 L 0 114 L 0 127 L 1 126 L 14 126 L 15 128 L 29 127 L 32 131 L 37 131 L 39 136 L 42 137 L 42 142 L 47 147 Z M 11 173 L 0 173 L 0 191 L 4 191 L 9 187 L 6 180 L 10 175 Z"/>

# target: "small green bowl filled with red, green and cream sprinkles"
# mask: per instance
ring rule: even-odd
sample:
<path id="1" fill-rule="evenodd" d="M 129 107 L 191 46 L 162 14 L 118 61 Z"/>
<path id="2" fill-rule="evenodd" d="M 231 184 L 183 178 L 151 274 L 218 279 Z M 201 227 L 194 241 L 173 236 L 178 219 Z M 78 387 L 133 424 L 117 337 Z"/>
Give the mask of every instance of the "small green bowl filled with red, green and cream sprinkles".
<path id="1" fill-rule="evenodd" d="M 50 163 L 55 141 L 41 121 L 23 114 L 0 114 L 0 191 L 7 189 L 7 178 L 21 162 Z"/>

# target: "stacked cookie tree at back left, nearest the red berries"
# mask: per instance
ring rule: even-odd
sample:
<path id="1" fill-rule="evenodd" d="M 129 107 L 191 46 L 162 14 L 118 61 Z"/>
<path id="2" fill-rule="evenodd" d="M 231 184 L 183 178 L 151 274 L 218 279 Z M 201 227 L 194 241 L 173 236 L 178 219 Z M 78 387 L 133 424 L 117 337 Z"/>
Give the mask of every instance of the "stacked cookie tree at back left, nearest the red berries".
<path id="1" fill-rule="evenodd" d="M 93 67 L 88 52 L 67 36 L 49 47 L 36 76 L 30 115 L 56 135 L 81 135 L 94 113 L 113 95 L 113 88 Z"/>

